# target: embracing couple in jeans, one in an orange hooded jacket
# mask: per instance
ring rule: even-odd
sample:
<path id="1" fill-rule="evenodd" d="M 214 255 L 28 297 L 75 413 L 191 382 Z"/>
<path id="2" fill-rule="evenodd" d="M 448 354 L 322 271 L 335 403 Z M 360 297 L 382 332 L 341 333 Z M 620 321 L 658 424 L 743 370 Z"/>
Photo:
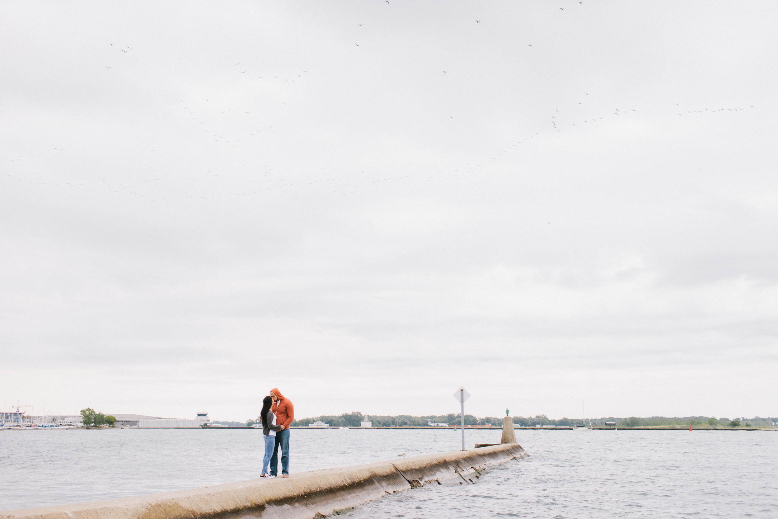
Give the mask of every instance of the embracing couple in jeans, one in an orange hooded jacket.
<path id="1" fill-rule="evenodd" d="M 289 477 L 289 426 L 294 419 L 294 405 L 273 387 L 270 396 L 262 400 L 262 434 L 265 438 L 265 459 L 261 478 L 275 478 L 279 473 L 279 446 L 281 447 L 282 478 Z M 268 464 L 270 472 L 268 472 Z"/>

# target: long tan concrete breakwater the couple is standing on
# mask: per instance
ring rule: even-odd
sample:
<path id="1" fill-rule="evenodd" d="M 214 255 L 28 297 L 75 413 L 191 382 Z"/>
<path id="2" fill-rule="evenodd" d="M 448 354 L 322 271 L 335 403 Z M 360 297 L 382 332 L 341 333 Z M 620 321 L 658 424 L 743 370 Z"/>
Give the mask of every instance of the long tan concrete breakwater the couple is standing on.
<path id="1" fill-rule="evenodd" d="M 0 512 L 2 519 L 311 519 L 426 485 L 468 485 L 489 465 L 527 455 L 519 444 L 329 468 L 94 503 Z"/>

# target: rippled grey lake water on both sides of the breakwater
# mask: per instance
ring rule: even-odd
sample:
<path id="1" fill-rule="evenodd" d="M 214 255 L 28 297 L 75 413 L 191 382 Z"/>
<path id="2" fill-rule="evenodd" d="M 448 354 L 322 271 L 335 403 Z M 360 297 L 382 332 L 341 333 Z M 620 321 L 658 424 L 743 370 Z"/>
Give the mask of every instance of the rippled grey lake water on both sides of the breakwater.
<path id="1" fill-rule="evenodd" d="M 292 430 L 290 472 L 456 451 L 453 430 Z M 465 431 L 467 447 L 500 430 Z M 345 517 L 778 517 L 778 433 L 517 430 L 530 457 Z M 254 479 L 258 430 L 0 432 L 0 510 Z"/>

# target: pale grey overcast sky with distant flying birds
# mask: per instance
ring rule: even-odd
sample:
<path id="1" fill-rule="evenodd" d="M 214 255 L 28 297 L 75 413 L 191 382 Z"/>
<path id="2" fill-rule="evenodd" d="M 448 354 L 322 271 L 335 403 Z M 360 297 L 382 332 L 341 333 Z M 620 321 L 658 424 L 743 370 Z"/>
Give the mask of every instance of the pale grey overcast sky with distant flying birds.
<path id="1" fill-rule="evenodd" d="M 776 416 L 774 2 L 3 2 L 2 403 Z"/>

